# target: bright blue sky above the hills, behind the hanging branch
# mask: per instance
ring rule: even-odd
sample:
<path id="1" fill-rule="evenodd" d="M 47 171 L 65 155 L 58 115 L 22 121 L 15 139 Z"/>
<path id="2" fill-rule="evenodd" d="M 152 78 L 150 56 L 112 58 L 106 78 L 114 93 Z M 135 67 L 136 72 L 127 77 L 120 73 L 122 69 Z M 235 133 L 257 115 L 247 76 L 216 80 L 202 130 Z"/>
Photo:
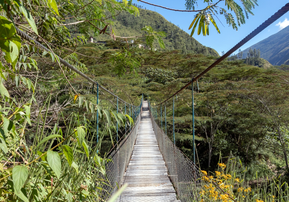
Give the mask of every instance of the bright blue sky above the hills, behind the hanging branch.
<path id="1" fill-rule="evenodd" d="M 174 8 L 178 10 L 185 10 L 185 0 L 146 0 L 149 3 L 162 5 L 164 7 L 168 8 Z M 213 2 L 215 2 L 214 0 Z M 238 1 L 238 0 L 237 0 Z M 202 3 L 202 0 L 199 0 L 198 7 L 195 7 L 195 9 L 202 9 L 204 8 L 204 5 Z M 141 5 L 143 7 L 146 7 L 149 10 L 156 11 L 160 13 L 164 18 L 166 18 L 168 21 L 171 21 L 175 25 L 179 25 L 181 29 L 184 31 L 191 33 L 191 30 L 188 30 L 188 27 L 190 26 L 194 15 L 196 13 L 194 12 L 176 12 L 171 10 L 166 10 L 163 8 L 151 6 L 142 2 L 137 2 L 134 0 L 134 3 L 137 3 L 138 5 Z M 270 16 L 272 16 L 275 12 L 277 12 L 282 6 L 284 6 L 286 3 L 288 3 L 288 0 L 258 0 L 258 5 L 253 10 L 254 16 L 249 15 L 249 19 L 246 20 L 246 24 L 241 25 L 238 27 L 238 31 L 232 29 L 232 27 L 229 27 L 226 24 L 226 20 L 223 16 L 218 16 L 220 21 L 218 19 L 216 20 L 216 23 L 221 31 L 221 34 L 217 33 L 216 29 L 213 27 L 213 25 L 209 26 L 210 35 L 209 36 L 203 36 L 203 35 L 197 35 L 195 32 L 193 37 L 198 40 L 201 44 L 214 48 L 218 53 L 221 53 L 222 51 L 227 52 L 230 48 L 235 46 L 240 40 L 242 40 L 244 37 L 246 37 L 251 31 L 253 31 L 255 28 L 257 28 L 260 24 L 262 24 L 265 20 L 267 20 Z M 224 2 L 221 2 L 221 4 L 224 7 Z M 289 25 L 289 12 L 286 13 L 284 16 L 276 20 L 272 25 L 267 27 L 264 31 L 259 33 L 257 36 L 255 36 L 253 39 L 251 39 L 247 44 L 243 45 L 241 47 L 241 50 L 244 50 L 248 48 L 249 46 L 252 46 L 253 44 L 269 37 L 272 34 L 277 33 L 282 28 Z"/>

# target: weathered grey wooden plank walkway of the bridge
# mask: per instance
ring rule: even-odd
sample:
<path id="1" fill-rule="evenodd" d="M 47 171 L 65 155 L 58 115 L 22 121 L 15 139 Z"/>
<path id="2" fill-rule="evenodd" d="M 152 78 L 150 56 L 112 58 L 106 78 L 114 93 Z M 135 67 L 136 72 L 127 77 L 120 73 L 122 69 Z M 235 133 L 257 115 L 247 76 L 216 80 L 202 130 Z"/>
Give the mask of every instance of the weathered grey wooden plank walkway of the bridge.
<path id="1" fill-rule="evenodd" d="M 125 172 L 122 185 L 127 183 L 118 202 L 177 201 L 176 192 L 168 178 L 164 159 L 153 132 L 147 102 L 143 102 L 142 116 L 136 144 Z"/>

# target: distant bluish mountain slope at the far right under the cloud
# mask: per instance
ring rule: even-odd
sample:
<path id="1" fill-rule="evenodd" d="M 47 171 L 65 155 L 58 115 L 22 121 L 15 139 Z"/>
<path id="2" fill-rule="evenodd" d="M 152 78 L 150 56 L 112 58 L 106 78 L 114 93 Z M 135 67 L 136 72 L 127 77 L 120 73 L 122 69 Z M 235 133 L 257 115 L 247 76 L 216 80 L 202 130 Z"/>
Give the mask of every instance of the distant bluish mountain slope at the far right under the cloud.
<path id="1" fill-rule="evenodd" d="M 273 65 L 289 64 L 289 26 L 245 49 L 243 58 L 247 57 L 250 48 L 260 49 L 261 58 Z"/>

